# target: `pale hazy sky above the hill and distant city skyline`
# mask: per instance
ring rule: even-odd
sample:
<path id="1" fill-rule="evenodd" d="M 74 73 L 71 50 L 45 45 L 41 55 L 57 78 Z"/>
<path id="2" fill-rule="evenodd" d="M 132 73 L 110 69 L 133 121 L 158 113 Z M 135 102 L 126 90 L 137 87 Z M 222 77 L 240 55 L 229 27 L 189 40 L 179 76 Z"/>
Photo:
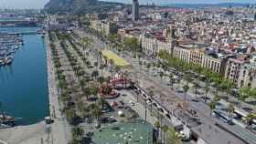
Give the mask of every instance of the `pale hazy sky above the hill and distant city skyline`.
<path id="1" fill-rule="evenodd" d="M 49 0 L 0 0 L 0 8 L 41 8 Z M 123 3 L 131 3 L 132 0 L 104 0 L 115 1 Z M 236 3 L 255 3 L 255 0 L 139 0 L 141 4 L 147 2 L 155 2 L 155 4 L 169 4 L 169 3 L 224 3 L 224 2 L 236 2 Z"/>

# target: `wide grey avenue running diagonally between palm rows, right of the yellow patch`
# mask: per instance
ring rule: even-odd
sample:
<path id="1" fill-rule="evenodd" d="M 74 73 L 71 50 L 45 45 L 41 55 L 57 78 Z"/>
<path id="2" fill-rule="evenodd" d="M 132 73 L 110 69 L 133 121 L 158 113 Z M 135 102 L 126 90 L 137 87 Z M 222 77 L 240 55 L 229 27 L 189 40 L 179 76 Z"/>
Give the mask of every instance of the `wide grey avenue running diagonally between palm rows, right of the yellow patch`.
<path id="1" fill-rule="evenodd" d="M 107 47 L 103 42 L 101 42 L 96 36 L 91 36 L 88 33 L 83 33 L 82 31 L 76 31 L 81 37 L 88 36 L 93 39 L 93 47 L 103 49 Z M 94 45 L 95 44 L 95 45 Z M 127 56 L 127 55 L 126 55 Z M 165 108 L 169 109 L 170 111 L 176 108 L 177 103 L 183 103 L 184 95 L 178 94 L 173 90 L 170 90 L 170 87 L 167 87 L 165 84 L 160 82 L 159 77 L 153 77 L 150 73 L 145 73 L 144 70 L 140 69 L 138 65 L 138 61 L 131 57 L 124 57 L 128 62 L 130 62 L 133 67 L 131 69 L 126 69 L 132 78 L 140 79 L 141 87 L 155 87 L 155 99 L 157 99 L 158 103 L 161 103 L 165 106 Z M 216 126 L 216 123 L 223 126 L 225 129 L 229 131 L 236 132 L 235 128 L 232 126 L 223 123 L 219 119 L 209 117 L 209 108 L 204 103 L 198 102 L 194 103 L 191 102 L 193 97 L 188 96 L 187 100 L 189 101 L 188 109 L 194 109 L 197 111 L 197 118 L 200 119 L 201 124 L 191 128 L 200 137 L 208 143 L 227 143 L 227 144 L 242 144 L 244 143 L 242 140 L 238 139 L 234 135 L 230 134 L 229 132 L 225 131 L 224 129 L 220 129 Z M 187 111 L 185 111 L 187 114 Z M 188 116 L 190 114 L 187 114 Z M 237 129 L 237 128 L 236 128 Z M 245 129 L 241 129 L 241 131 L 245 131 Z M 245 131 L 246 133 L 248 131 Z M 246 138 L 243 138 L 246 139 Z M 250 140 L 249 140 L 250 141 Z M 255 141 L 250 141 L 250 143 L 255 143 Z"/>

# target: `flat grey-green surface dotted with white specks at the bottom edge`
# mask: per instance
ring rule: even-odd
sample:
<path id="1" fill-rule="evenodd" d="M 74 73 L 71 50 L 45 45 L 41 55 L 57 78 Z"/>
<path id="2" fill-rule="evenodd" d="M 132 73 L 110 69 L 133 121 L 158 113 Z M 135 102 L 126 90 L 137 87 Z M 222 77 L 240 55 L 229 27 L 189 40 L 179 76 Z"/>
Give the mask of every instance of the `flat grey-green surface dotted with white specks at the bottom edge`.
<path id="1" fill-rule="evenodd" d="M 92 141 L 97 144 L 153 144 L 153 126 L 144 120 L 133 120 L 94 133 Z"/>

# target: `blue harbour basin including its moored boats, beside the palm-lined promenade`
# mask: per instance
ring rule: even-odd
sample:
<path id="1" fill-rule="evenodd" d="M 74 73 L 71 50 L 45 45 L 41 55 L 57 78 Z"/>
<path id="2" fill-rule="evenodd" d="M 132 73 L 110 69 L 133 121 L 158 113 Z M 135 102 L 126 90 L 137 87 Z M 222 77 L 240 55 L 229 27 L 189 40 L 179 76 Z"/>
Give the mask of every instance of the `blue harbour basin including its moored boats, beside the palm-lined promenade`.
<path id="1" fill-rule="evenodd" d="M 0 129 L 48 116 L 43 35 L 41 27 L 0 27 Z"/>

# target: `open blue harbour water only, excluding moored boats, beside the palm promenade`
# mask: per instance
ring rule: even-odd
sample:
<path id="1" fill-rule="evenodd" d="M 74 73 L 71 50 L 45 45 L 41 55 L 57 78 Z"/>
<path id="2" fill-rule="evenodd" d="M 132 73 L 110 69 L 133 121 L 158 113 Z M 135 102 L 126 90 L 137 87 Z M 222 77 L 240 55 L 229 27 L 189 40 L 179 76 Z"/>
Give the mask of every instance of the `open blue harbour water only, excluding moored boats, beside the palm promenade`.
<path id="1" fill-rule="evenodd" d="M 40 27 L 0 27 L 0 32 L 31 32 Z M 47 58 L 39 35 L 24 35 L 24 45 L 10 66 L 0 67 L 0 102 L 18 125 L 34 124 L 48 116 Z"/>

